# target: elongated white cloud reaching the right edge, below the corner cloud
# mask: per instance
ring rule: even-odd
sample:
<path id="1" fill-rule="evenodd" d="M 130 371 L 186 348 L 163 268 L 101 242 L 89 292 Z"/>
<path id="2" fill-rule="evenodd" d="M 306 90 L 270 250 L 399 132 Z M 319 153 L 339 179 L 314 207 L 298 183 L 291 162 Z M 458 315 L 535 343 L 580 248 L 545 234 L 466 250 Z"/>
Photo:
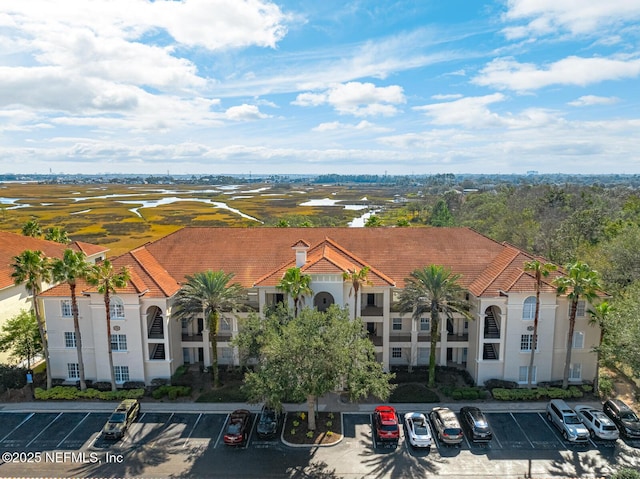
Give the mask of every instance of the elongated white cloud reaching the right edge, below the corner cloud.
<path id="1" fill-rule="evenodd" d="M 498 58 L 485 66 L 472 83 L 499 90 L 531 91 L 549 85 L 586 86 L 605 80 L 640 75 L 640 60 L 571 56 L 540 68 L 512 58 Z"/>

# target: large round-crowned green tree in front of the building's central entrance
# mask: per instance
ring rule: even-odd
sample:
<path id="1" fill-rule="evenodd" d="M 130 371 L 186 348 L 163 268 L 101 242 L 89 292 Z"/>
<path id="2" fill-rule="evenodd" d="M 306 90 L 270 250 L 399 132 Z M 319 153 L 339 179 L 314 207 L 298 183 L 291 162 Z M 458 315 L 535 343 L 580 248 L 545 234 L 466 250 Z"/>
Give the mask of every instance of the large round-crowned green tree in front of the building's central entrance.
<path id="1" fill-rule="evenodd" d="M 303 308 L 289 321 L 265 318 L 258 366 L 245 375 L 250 400 L 279 407 L 285 399 L 306 399 L 310 430 L 316 428 L 316 399 L 343 383 L 353 400 L 368 394 L 386 400 L 393 375 L 376 361 L 362 321 L 349 316 L 332 305 L 326 312 Z"/>

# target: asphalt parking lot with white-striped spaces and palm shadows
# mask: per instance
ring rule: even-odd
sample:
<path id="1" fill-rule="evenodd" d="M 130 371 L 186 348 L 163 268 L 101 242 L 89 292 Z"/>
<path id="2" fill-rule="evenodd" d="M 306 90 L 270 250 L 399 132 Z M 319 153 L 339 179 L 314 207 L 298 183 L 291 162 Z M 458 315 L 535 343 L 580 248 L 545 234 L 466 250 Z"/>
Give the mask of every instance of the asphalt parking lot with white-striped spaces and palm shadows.
<path id="1" fill-rule="evenodd" d="M 399 409 L 400 415 L 405 412 Z M 344 413 L 343 440 L 311 449 L 259 439 L 255 414 L 248 441 L 234 448 L 222 440 L 228 414 L 143 410 L 120 441 L 101 438 L 108 417 L 105 412 L 0 412 L 0 476 L 314 477 L 309 471 L 315 471 L 323 477 L 319 470 L 331 470 L 336 478 L 599 477 L 617 466 L 640 467 L 640 442 L 573 445 L 537 412 L 488 413 L 490 444 L 465 438 L 451 447 L 435 439 L 429 451 L 412 449 L 404 434 L 397 445 L 378 444 L 368 413 Z"/>

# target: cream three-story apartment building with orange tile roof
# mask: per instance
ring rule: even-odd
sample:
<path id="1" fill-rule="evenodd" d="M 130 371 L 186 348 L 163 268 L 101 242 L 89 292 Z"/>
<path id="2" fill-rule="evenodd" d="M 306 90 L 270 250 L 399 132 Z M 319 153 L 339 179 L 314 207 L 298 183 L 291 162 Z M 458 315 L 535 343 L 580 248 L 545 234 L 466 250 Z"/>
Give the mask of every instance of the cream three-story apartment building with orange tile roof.
<path id="1" fill-rule="evenodd" d="M 209 331 L 203 318 L 177 321 L 175 294 L 185 276 L 205 270 L 234 274 L 247 292 L 247 308 L 263 314 L 278 301 L 285 271 L 301 268 L 311 276 L 313 294 L 304 306 L 348 308 L 366 324 L 385 369 L 424 365 L 429 360 L 427 316 L 416 321 L 397 305 L 405 278 L 418 268 L 443 265 L 461 275 L 473 320 L 441 321 L 436 357 L 442 365 L 466 369 L 479 384 L 500 378 L 526 383 L 532 347 L 535 278 L 523 265 L 532 256 L 468 228 L 184 228 L 112 259 L 126 266 L 131 280 L 112 297 L 112 350 L 116 381 L 151 382 L 170 377 L 182 364 L 211 364 Z M 369 267 L 369 284 L 359 297 L 345 271 Z M 560 274 L 560 273 L 556 273 Z M 566 297 L 545 279 L 540 300 L 536 382 L 562 378 L 568 334 Z M 109 380 L 106 314 L 102 295 L 79 288 L 86 377 Z M 49 332 L 53 377 L 77 378 L 75 335 L 69 289 L 54 286 L 42 295 Z M 357 301 L 357 303 L 356 303 Z M 572 381 L 592 380 L 599 331 L 588 324 L 579 304 L 573 337 Z M 219 363 L 238 364 L 230 340 L 238 318 L 225 314 L 218 334 Z"/>

